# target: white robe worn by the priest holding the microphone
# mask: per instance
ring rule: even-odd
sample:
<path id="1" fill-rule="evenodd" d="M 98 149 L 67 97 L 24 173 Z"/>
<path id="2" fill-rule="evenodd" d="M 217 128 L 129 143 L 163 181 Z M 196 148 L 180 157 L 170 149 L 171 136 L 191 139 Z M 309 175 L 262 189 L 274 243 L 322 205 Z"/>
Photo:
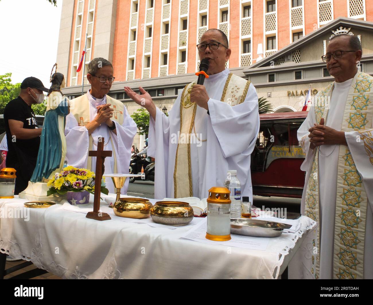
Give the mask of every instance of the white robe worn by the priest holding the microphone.
<path id="1" fill-rule="evenodd" d="M 253 84 L 239 79 L 237 84 L 243 82 L 245 90 L 244 94 L 241 94 L 243 96 L 241 102 L 239 103 L 239 99 L 236 101 L 235 93 L 244 88 L 242 85 L 235 85 L 234 80 L 238 77 L 231 76 L 229 70 L 225 69 L 210 75 L 204 81 L 210 98 L 208 101 L 210 115 L 207 114 L 206 109 L 196 107 L 195 124 L 190 132 L 191 139 L 195 140 L 190 141 L 190 160 L 176 158 L 178 139 L 182 138 L 180 135 L 180 113 L 181 107 L 184 107 L 183 102 L 181 103 L 182 94 L 179 94 L 169 111 L 169 117 L 157 108 L 156 120 L 150 118 L 148 156 L 156 159 L 155 198 L 175 198 L 176 161 L 177 166 L 182 162 L 186 162 L 184 164 L 187 165 L 189 163 L 191 172 L 189 183 L 192 189 L 190 196 L 208 197 L 208 190 L 211 187 L 224 185 L 228 170 L 236 170 L 241 182 L 241 195 L 249 196 L 252 200 L 250 156 L 259 132 L 258 96 Z M 229 82 L 231 78 L 233 81 Z M 225 92 L 230 96 L 228 102 L 221 101 Z M 230 100 L 234 106 L 229 104 Z M 194 107 L 194 101 L 189 101 L 189 104 Z M 187 124 L 191 124 L 190 121 L 189 118 Z M 188 171 L 185 175 L 188 175 Z M 181 185 L 181 188 L 184 188 L 183 191 L 185 188 L 189 190 L 189 185 Z"/>

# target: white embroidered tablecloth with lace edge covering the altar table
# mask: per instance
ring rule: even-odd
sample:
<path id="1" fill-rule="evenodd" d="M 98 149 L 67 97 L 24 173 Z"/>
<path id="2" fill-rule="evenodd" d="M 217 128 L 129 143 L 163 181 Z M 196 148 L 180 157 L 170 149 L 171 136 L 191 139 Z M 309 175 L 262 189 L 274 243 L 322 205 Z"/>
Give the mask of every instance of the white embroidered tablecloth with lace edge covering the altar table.
<path id="1" fill-rule="evenodd" d="M 66 204 L 25 208 L 17 197 L 0 200 L 0 251 L 68 279 L 277 279 L 317 226 L 301 216 L 297 232 L 270 238 L 266 251 L 250 250 L 180 238 L 203 219 L 179 227 L 115 215 L 97 221 Z M 113 213 L 107 206 L 101 201 Z"/>

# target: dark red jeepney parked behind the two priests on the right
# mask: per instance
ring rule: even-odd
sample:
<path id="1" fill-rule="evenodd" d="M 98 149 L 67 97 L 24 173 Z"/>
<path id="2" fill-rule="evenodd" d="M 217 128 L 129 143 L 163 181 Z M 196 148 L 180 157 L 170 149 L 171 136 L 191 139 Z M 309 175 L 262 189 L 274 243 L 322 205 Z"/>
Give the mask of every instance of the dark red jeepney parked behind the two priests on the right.
<path id="1" fill-rule="evenodd" d="M 297 130 L 307 111 L 260 115 L 260 130 L 251 154 L 253 194 L 301 198 L 305 172 L 300 166 L 305 153 Z"/>

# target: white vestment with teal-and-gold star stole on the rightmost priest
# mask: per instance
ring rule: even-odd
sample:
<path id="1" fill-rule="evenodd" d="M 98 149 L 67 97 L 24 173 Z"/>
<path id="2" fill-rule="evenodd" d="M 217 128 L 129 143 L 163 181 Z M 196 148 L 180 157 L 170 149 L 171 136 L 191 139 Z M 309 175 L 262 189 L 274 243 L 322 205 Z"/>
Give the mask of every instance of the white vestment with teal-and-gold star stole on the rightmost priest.
<path id="1" fill-rule="evenodd" d="M 312 107 L 309 107 L 307 118 L 298 130 L 298 140 L 306 153 L 301 169 L 307 171 L 306 184 L 301 201 L 302 215 L 309 216 L 307 215 L 307 207 L 309 208 L 310 205 L 314 206 L 314 204 L 310 204 L 312 202 L 310 196 L 312 197 L 313 194 L 309 191 L 307 192 L 307 190 L 309 190 L 312 183 L 315 183 L 314 185 L 318 184 L 318 196 L 316 193 L 315 198 L 316 202 L 319 200 L 319 219 L 317 219 L 317 222 L 319 222 L 320 246 L 317 247 L 317 251 L 320 251 L 320 262 L 319 274 L 317 274 L 318 272 L 316 273 L 316 271 L 318 269 L 311 268 L 306 263 L 311 257 L 308 254 L 301 254 L 302 251 L 300 249 L 299 253 L 297 252 L 296 254 L 298 258 L 294 260 L 299 260 L 296 269 L 301 271 L 304 266 L 309 267 L 307 267 L 307 272 L 303 270 L 301 274 L 298 273 L 297 275 L 297 273 L 294 273 L 296 278 L 314 278 L 315 273 L 316 278 L 320 279 L 360 279 L 362 274 L 365 279 L 373 278 L 373 158 L 369 158 L 367 153 L 369 152 L 369 149 L 367 149 L 369 141 L 366 141 L 369 135 L 372 136 L 373 116 L 371 114 L 373 112 L 367 113 L 367 110 L 369 111 L 367 105 L 370 104 L 367 91 L 372 88 L 366 87 L 365 84 L 372 84 L 372 82 L 367 74 L 360 74 L 360 72 L 353 79 L 342 83 L 332 83 L 331 86 L 328 86 L 322 92 L 322 95 L 325 94 L 325 96 L 330 98 L 329 102 L 326 102 L 329 104 L 326 104 L 324 113 L 319 114 L 318 110 L 315 109 L 315 103 L 317 103 L 317 99 L 315 99 Z M 330 90 L 332 90 L 331 93 Z M 370 108 L 370 110 L 372 109 Z M 365 120 L 354 122 L 353 119 L 357 115 L 361 115 Z M 341 131 L 341 129 L 345 131 L 346 127 L 344 126 L 347 125 L 351 129 L 353 128 L 352 130 L 355 130 L 345 131 L 347 146 L 322 145 L 319 147 L 318 152 L 317 148 L 310 149 L 308 129 L 313 127 L 315 123 L 319 124 L 321 117 L 326 118 L 325 126 L 337 131 Z M 370 145 L 372 145 L 372 140 L 370 142 Z M 318 158 L 318 168 L 316 168 L 314 163 L 315 157 Z M 354 163 L 350 161 L 351 158 Z M 350 163 L 350 170 L 342 168 L 344 172 L 340 171 L 341 166 L 350 165 Z M 314 177 L 313 180 L 312 176 Z M 363 186 L 366 196 L 360 190 Z M 340 213 L 336 203 L 341 200 L 342 212 Z M 365 210 L 363 206 L 366 207 Z M 360 212 L 362 213 L 360 217 L 364 220 L 363 222 L 356 217 L 360 215 Z M 312 212 L 312 215 L 317 215 L 317 213 L 313 214 Z M 357 228 L 362 226 L 363 223 L 365 230 L 363 229 L 363 232 L 357 233 Z M 340 229 L 337 225 L 346 225 L 346 227 Z M 365 238 L 362 235 L 364 231 Z M 316 246 L 316 244 L 313 244 L 313 246 L 304 246 L 304 244 L 302 247 L 308 248 L 308 250 Z M 362 247 L 361 252 L 356 250 L 359 246 Z M 348 248 L 345 249 L 344 247 Z M 315 257 L 316 255 L 312 257 L 312 260 L 316 260 Z M 358 265 L 363 266 L 359 271 L 360 274 L 356 272 Z M 295 266 L 293 267 L 295 269 Z M 289 276 L 291 275 L 290 272 L 291 270 L 289 269 Z"/>

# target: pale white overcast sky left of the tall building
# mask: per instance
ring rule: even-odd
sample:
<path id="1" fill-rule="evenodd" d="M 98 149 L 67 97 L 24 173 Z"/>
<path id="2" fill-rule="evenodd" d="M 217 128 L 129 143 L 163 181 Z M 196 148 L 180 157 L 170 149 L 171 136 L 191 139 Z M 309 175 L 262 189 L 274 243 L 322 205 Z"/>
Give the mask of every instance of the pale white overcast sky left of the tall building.
<path id="1" fill-rule="evenodd" d="M 47 0 L 0 0 L 0 75 L 11 72 L 13 83 L 35 76 L 50 87 L 61 8 L 62 0 L 57 7 Z"/>

